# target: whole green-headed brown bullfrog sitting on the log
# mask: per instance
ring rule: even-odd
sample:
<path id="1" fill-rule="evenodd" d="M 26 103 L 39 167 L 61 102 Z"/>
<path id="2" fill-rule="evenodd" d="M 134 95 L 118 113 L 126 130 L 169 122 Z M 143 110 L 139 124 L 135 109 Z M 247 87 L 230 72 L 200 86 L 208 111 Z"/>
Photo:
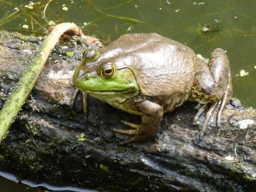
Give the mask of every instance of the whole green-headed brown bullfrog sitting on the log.
<path id="1" fill-rule="evenodd" d="M 131 130 L 113 129 L 133 135 L 122 143 L 153 138 L 163 114 L 187 100 L 201 104 L 193 123 L 203 119 L 202 136 L 211 117 L 220 126 L 232 94 L 229 61 L 222 49 L 215 49 L 205 62 L 187 46 L 156 33 L 122 35 L 104 48 L 84 52 L 73 83 L 82 92 L 141 116 L 140 125 L 125 122 Z M 84 110 L 86 106 L 84 102 Z"/>

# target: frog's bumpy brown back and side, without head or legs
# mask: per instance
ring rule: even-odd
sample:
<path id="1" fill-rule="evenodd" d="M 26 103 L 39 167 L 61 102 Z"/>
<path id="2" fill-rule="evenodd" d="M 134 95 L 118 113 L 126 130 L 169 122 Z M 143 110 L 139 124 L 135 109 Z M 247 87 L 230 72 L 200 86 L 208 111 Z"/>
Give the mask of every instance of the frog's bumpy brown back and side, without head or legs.
<path id="1" fill-rule="evenodd" d="M 141 95 L 161 100 L 176 97 L 179 104 L 190 96 L 196 54 L 175 40 L 156 33 L 126 34 L 101 52 L 118 68 L 132 69 Z"/>

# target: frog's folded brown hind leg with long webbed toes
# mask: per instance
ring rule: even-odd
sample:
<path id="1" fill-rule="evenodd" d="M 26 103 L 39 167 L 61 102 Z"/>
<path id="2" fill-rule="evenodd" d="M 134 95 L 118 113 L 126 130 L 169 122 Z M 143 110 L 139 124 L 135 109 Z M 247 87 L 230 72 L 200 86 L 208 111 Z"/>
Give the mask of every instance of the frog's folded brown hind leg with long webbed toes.
<path id="1" fill-rule="evenodd" d="M 194 119 L 195 122 L 201 115 L 205 115 L 199 137 L 202 138 L 212 115 L 216 114 L 216 125 L 220 127 L 221 114 L 232 95 L 229 61 L 224 50 L 214 50 L 208 65 L 203 59 L 196 58 L 195 72 L 191 98 L 204 104 Z M 207 103 L 209 108 L 205 107 Z"/>

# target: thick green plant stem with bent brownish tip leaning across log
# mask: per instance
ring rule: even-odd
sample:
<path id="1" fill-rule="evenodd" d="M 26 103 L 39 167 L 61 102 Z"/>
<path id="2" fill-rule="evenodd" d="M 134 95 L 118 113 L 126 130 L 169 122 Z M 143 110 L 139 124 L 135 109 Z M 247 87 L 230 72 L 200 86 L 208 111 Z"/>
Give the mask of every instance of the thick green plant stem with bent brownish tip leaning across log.
<path id="1" fill-rule="evenodd" d="M 24 75 L 15 84 L 12 94 L 0 111 L 0 142 L 4 139 L 9 127 L 29 96 L 59 37 L 69 30 L 74 30 L 77 34 L 80 34 L 79 28 L 73 23 L 57 25 L 29 63 Z"/>

